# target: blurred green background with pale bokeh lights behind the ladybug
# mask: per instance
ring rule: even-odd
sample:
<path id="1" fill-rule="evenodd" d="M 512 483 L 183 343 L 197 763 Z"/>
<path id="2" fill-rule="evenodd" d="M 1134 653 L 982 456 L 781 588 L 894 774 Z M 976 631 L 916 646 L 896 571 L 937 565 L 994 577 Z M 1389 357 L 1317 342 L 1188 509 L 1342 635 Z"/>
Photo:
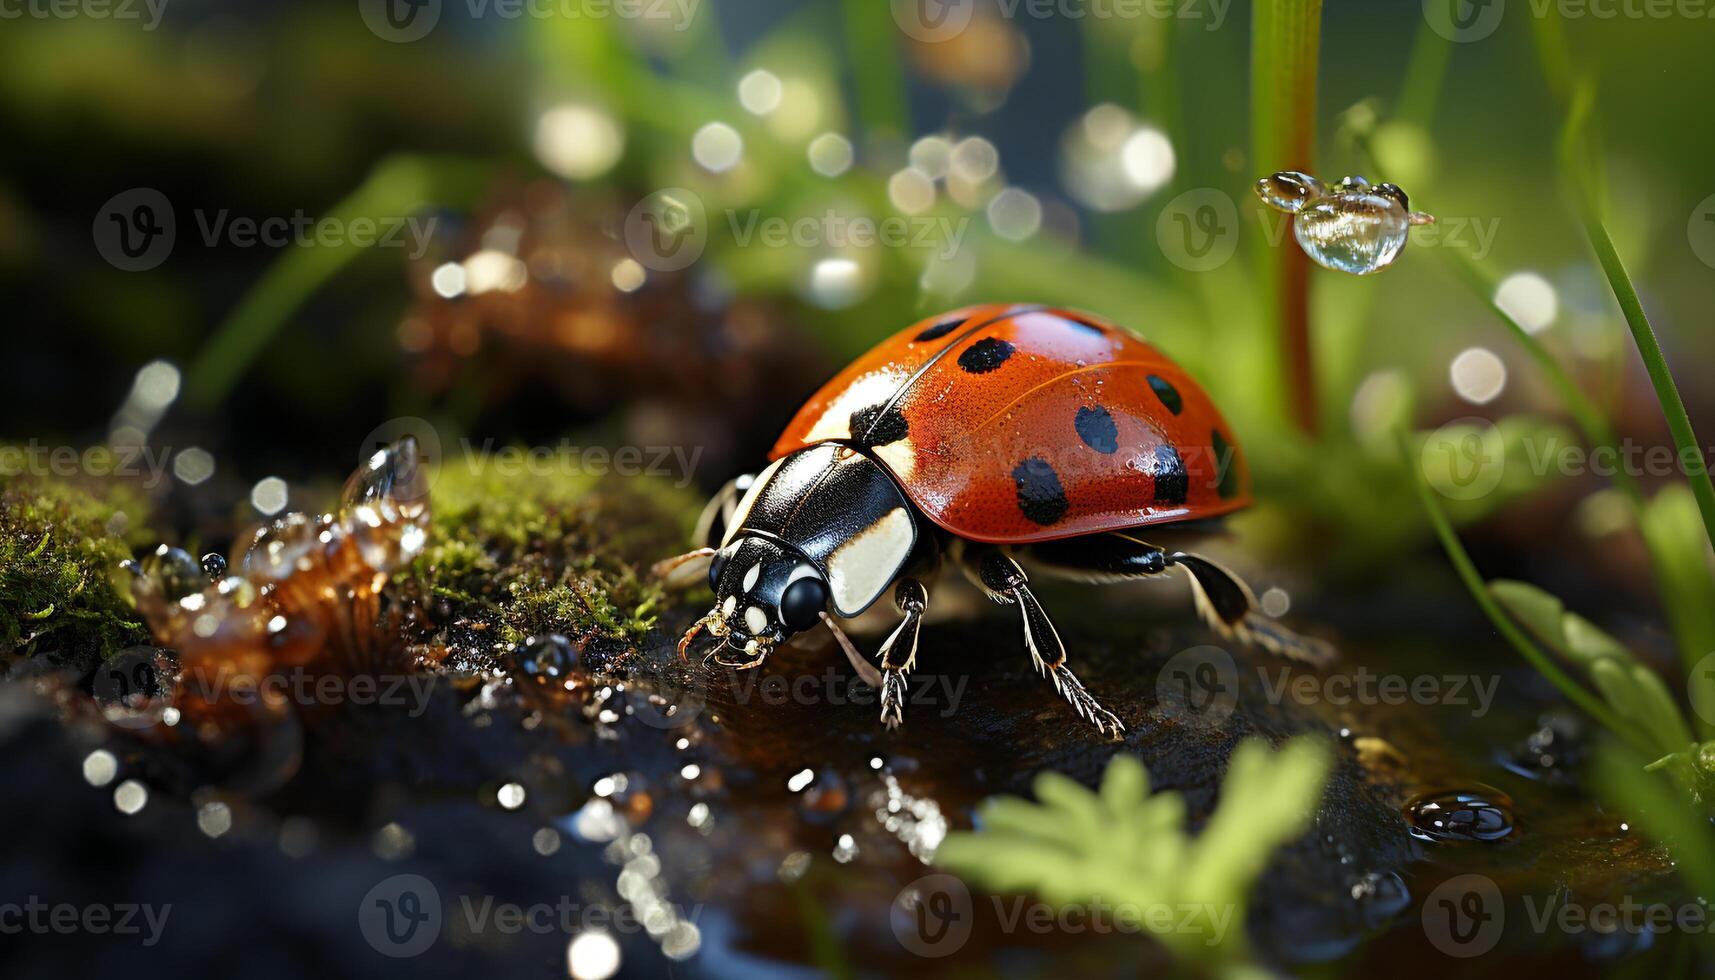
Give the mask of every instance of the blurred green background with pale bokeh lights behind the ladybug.
<path id="1" fill-rule="evenodd" d="M 1249 5 L 1192 2 L 1159 17 L 1149 15 L 1158 7 L 1125 3 L 983 0 L 950 5 L 974 15 L 947 41 L 914 39 L 899 7 L 444 0 L 430 7 L 432 29 L 410 41 L 372 29 L 365 14 L 384 10 L 357 2 L 170 0 L 158 22 L 141 3 L 129 9 L 135 19 L 9 19 L 0 26 L 3 436 L 105 441 L 139 367 L 163 359 L 182 372 L 182 390 L 146 436 L 206 446 L 240 489 L 269 474 L 338 472 L 345 446 L 391 417 L 422 415 L 477 439 L 590 427 L 635 438 L 648 426 L 626 412 L 653 398 L 691 407 L 701 398 L 708 412 L 698 417 L 713 422 L 677 438 L 725 439 L 727 451 L 698 472 L 715 484 L 767 446 L 796 398 L 902 324 L 967 302 L 1053 302 L 1137 330 L 1206 381 L 1269 501 L 1254 518 L 1261 547 L 1309 546 L 1326 568 L 1370 568 L 1425 534 L 1393 427 L 1516 417 L 1502 427 L 1511 438 L 1554 431 L 1544 427 L 1564 415 L 1485 297 L 1454 275 L 1449 252 L 1495 280 L 1540 276 L 1513 300 L 1544 319 L 1540 340 L 1612 408 L 1622 436 L 1665 441 L 1556 163 L 1574 76 L 1598 82 L 1619 251 L 1693 419 L 1706 417 L 1694 366 L 1708 355 L 1701 324 L 1715 269 L 1696 249 L 1700 228 L 1715 235 L 1715 225 L 1696 218 L 1715 192 L 1706 166 L 1715 122 L 1703 105 L 1715 81 L 1703 57 L 1715 22 L 1514 0 L 1501 5 L 1492 33 L 1447 39 L 1415 2 L 1326 5 L 1315 170 L 1329 180 L 1394 180 L 1442 221 L 1415 230 L 1379 276 L 1312 269 L 1319 427 L 1307 436 L 1288 420 L 1264 288 L 1276 252 L 1269 230 L 1281 225 L 1249 192 L 1281 166 L 1252 158 Z M 1544 48 L 1545 26 L 1564 33 L 1569 58 Z M 712 139 L 713 165 L 696 158 L 700 132 Z M 852 148 L 849 168 L 839 166 L 840 141 Z M 832 175 L 813 166 L 813 146 Z M 955 166 L 942 170 L 947 153 Z M 501 367 L 487 357 L 506 347 L 504 331 L 454 342 L 468 364 L 424 381 L 429 342 L 418 328 L 449 305 L 425 285 L 432 269 L 468 257 L 497 215 L 508 220 L 508 196 L 523 199 L 544 180 L 564 196 L 566 215 L 621 249 L 628 209 L 653 191 L 683 187 L 701 199 L 705 256 L 683 273 L 648 271 L 636 295 L 617 290 L 629 311 L 619 330 L 662 321 L 640 299 L 659 288 L 679 290 L 660 300 L 671 309 L 729 318 L 719 328 L 727 333 L 734 304 L 763 304 L 767 347 L 791 354 L 787 367 L 744 379 L 755 405 L 722 417 L 732 393 L 710 374 L 731 378 L 731 364 L 751 352 L 727 345 L 705 357 L 705 342 L 676 354 L 701 359 L 701 374 L 641 376 L 592 398 L 540 379 L 497 384 Z M 159 191 L 178 227 L 172 254 L 142 273 L 115 268 L 96 244 L 103 208 L 137 187 Z M 1183 196 L 1207 192 L 1237 215 L 1219 225 L 1237 251 L 1213 269 L 1163 247 L 1183 218 L 1175 209 L 1209 201 Z M 938 249 L 909 244 L 758 247 L 734 235 L 751 215 L 830 209 L 945 218 L 960 247 L 942 261 Z M 417 261 L 391 247 L 204 240 L 197 221 L 221 213 L 432 216 L 436 240 Z M 532 232 L 544 233 L 554 230 Z M 1715 239 L 1701 247 L 1715 259 Z M 600 244 L 576 249 L 605 254 Z M 616 292 L 600 281 L 592 290 Z M 590 290 L 571 292 L 544 302 L 556 312 L 593 302 Z M 473 330 L 492 330 L 492 319 L 480 314 Z M 1504 384 L 1494 359 L 1478 357 L 1473 388 L 1459 393 L 1453 364 L 1471 347 L 1499 359 Z M 629 420 L 612 429 L 616 417 Z M 648 431 L 671 433 L 683 417 Z M 712 436 L 722 422 L 729 433 Z M 1509 469 L 1497 493 L 1453 501 L 1456 517 L 1494 513 L 1540 489 L 1538 477 Z M 1614 551 L 1600 537 L 1624 532 L 1624 522 L 1600 496 L 1588 503 L 1602 486 L 1559 481 L 1530 498 L 1530 513 L 1554 515 L 1521 518 L 1531 541 L 1552 537 L 1545 560 L 1576 546 L 1559 541 L 1566 527 L 1590 530 L 1595 551 Z M 1581 523 L 1566 523 L 1574 517 Z"/>

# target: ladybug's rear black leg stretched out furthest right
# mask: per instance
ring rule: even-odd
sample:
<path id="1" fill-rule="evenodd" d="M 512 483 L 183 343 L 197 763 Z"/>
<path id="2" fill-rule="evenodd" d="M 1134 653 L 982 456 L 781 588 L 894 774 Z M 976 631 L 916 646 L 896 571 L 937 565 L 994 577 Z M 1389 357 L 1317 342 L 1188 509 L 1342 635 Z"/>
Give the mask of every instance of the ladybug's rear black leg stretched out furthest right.
<path id="1" fill-rule="evenodd" d="M 1027 560 L 1055 575 L 1086 582 L 1142 578 L 1178 566 L 1190 575 L 1197 613 L 1221 635 L 1307 662 L 1327 662 L 1334 656 L 1326 642 L 1300 637 L 1264 616 L 1242 578 L 1200 554 L 1166 551 L 1130 534 L 1110 532 L 1036 544 Z"/>

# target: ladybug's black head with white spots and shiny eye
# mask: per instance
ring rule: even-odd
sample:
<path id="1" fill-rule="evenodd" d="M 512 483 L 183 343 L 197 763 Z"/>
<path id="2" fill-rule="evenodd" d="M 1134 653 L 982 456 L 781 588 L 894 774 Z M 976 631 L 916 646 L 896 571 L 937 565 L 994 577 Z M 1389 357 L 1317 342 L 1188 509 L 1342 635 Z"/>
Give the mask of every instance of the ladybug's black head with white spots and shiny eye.
<path id="1" fill-rule="evenodd" d="M 828 604 L 821 573 L 796 551 L 760 535 L 739 535 L 708 565 L 715 608 L 708 632 L 760 661 L 775 644 L 815 626 Z"/>

